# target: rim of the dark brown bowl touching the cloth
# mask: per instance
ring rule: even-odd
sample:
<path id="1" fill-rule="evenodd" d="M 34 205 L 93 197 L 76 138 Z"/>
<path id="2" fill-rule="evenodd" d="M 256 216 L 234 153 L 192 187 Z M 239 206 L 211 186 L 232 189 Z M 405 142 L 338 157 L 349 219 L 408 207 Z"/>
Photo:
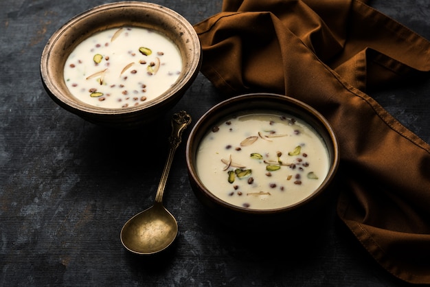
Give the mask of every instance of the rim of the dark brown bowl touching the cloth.
<path id="1" fill-rule="evenodd" d="M 330 167 L 329 167 L 328 173 L 326 175 L 326 178 L 321 183 L 321 185 L 319 185 L 317 190 L 315 190 L 312 194 L 310 194 L 306 198 L 299 200 L 297 203 L 293 203 L 292 205 L 287 205 L 286 207 L 278 207 L 278 208 L 274 208 L 274 209 L 251 209 L 251 208 L 247 208 L 247 207 L 240 207 L 238 205 L 233 205 L 231 203 L 228 203 L 225 200 L 218 198 L 214 194 L 212 194 L 212 192 L 210 192 L 210 190 L 208 190 L 205 187 L 205 185 L 203 185 L 203 183 L 199 179 L 199 176 L 197 176 L 196 168 L 195 168 L 195 165 L 193 164 L 193 160 L 196 157 L 196 152 L 194 152 L 194 154 L 192 154 L 192 150 L 193 150 L 193 148 L 195 148 L 195 150 L 198 148 L 201 139 L 199 139 L 199 142 L 194 141 L 194 135 L 196 135 L 196 133 L 199 132 L 199 130 L 201 129 L 201 126 L 203 126 L 205 123 L 207 123 L 209 121 L 212 121 L 213 118 L 215 118 L 214 122 L 217 122 L 218 120 L 225 117 L 225 115 L 220 115 L 220 116 L 215 116 L 215 117 L 214 117 L 214 115 L 216 115 L 221 108 L 223 108 L 227 105 L 236 104 L 238 102 L 246 102 L 246 101 L 250 101 L 250 100 L 268 101 L 268 99 L 270 99 L 270 100 L 275 99 L 275 101 L 282 101 L 282 102 L 285 102 L 286 104 L 291 104 L 293 106 L 296 106 L 297 108 L 304 111 L 305 113 L 308 113 L 308 115 L 310 115 L 311 117 L 314 117 L 321 124 L 321 126 L 324 127 L 324 129 L 326 130 L 326 133 L 328 133 L 330 140 L 332 141 L 333 154 L 332 154 L 332 160 L 330 162 Z M 258 110 L 258 108 L 250 108 L 250 109 L 251 110 Z M 241 109 L 238 109 L 237 111 L 240 111 L 240 110 Z M 262 110 L 263 111 L 267 110 L 267 108 L 262 108 Z M 281 109 L 280 109 L 280 111 L 281 111 Z M 288 110 L 286 112 L 288 112 Z M 201 131 L 201 133 L 203 133 L 203 135 L 205 135 L 204 131 Z M 327 144 L 328 143 L 326 143 L 326 145 Z M 319 113 L 312 106 L 310 106 L 310 105 L 308 105 L 308 104 L 306 104 L 300 100 L 297 100 L 293 97 L 289 97 L 287 95 L 280 95 L 277 93 L 247 93 L 247 94 L 243 94 L 243 95 L 236 95 L 236 96 L 231 97 L 227 100 L 223 100 L 222 102 L 219 102 L 215 106 L 212 106 L 212 108 L 210 108 L 208 111 L 206 111 L 199 118 L 199 120 L 196 122 L 196 124 L 192 128 L 190 135 L 188 137 L 187 145 L 185 148 L 185 160 L 186 160 L 186 164 L 187 164 L 187 168 L 188 168 L 188 174 L 190 177 L 192 177 L 192 179 L 190 179 L 190 180 L 194 181 L 194 184 L 197 185 L 200 192 L 202 192 L 204 196 L 210 198 L 210 200 L 212 200 L 212 202 L 214 201 L 218 205 L 220 205 L 221 207 L 224 207 L 224 208 L 227 208 L 227 209 L 230 209 L 233 211 L 238 211 L 238 212 L 244 213 L 244 214 L 267 214 L 267 215 L 268 214 L 278 214 L 278 213 L 282 213 L 282 212 L 288 212 L 288 211 L 291 211 L 293 209 L 297 209 L 297 208 L 301 207 L 302 205 L 305 205 L 309 200 L 319 196 L 322 192 L 324 192 L 324 190 L 326 190 L 327 187 L 330 186 L 331 182 L 333 181 L 333 179 L 335 177 L 337 169 L 339 167 L 339 161 L 340 161 L 339 142 L 337 140 L 335 130 L 333 130 L 333 128 L 330 125 L 330 123 L 328 122 L 328 120 L 323 115 L 321 115 L 321 113 Z"/>

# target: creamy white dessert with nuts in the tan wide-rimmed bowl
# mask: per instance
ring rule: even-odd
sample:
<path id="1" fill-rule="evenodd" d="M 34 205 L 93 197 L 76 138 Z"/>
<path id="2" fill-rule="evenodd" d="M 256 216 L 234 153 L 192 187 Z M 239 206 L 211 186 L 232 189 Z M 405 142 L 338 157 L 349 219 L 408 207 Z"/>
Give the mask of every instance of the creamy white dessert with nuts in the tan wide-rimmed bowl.
<path id="1" fill-rule="evenodd" d="M 120 27 L 82 41 L 65 63 L 71 94 L 104 108 L 126 108 L 155 99 L 179 78 L 177 45 L 155 30 Z"/>

